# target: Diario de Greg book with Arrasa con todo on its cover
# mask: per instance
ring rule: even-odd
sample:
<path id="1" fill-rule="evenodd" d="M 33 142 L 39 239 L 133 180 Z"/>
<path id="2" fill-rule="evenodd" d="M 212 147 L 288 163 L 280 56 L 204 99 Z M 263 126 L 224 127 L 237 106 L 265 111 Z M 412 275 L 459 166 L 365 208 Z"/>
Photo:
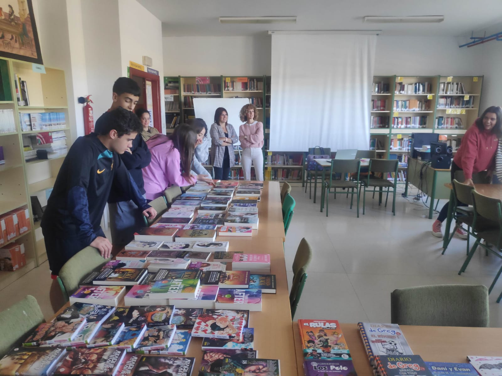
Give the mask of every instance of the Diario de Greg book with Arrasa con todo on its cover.
<path id="1" fill-rule="evenodd" d="M 432 376 L 420 355 L 376 355 L 379 376 Z"/>

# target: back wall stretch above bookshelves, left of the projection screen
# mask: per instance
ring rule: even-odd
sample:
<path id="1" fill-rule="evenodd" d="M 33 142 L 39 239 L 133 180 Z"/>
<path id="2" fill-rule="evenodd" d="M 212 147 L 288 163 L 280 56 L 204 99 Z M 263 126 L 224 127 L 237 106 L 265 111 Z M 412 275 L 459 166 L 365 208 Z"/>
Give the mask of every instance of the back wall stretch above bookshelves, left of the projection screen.
<path id="1" fill-rule="evenodd" d="M 271 72 L 270 36 L 162 40 L 166 76 L 263 76 Z"/>

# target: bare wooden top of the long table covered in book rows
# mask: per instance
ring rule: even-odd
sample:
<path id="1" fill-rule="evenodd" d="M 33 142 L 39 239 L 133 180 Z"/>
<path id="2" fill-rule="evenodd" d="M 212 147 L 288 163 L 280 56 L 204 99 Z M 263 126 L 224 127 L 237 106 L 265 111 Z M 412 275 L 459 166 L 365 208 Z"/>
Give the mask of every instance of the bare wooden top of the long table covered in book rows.
<path id="1" fill-rule="evenodd" d="M 253 230 L 252 237 L 217 237 L 229 242 L 229 251 L 265 253 L 271 257 L 271 274 L 276 275 L 277 293 L 263 294 L 262 312 L 250 312 L 249 327 L 255 328 L 255 349 L 261 358 L 279 359 L 281 375 L 296 375 L 295 345 L 291 327 L 288 280 L 284 260 L 284 225 L 282 224 L 279 183 L 265 182 L 259 204 L 260 230 Z M 278 213 L 277 213 L 278 212 Z M 263 222 L 262 222 L 263 218 Z M 280 225 L 279 226 L 279 222 Z M 268 224 L 270 228 L 266 227 Z M 272 236 L 276 232 L 276 236 Z M 282 236 L 281 236 L 282 235 Z M 227 269 L 231 270 L 231 263 Z M 68 307 L 67 303 L 56 313 Z M 119 306 L 124 306 L 119 304 Z M 55 317 L 54 316 L 54 317 Z M 192 337 L 187 356 L 195 357 L 193 375 L 196 375 L 202 359 L 202 338 Z"/>

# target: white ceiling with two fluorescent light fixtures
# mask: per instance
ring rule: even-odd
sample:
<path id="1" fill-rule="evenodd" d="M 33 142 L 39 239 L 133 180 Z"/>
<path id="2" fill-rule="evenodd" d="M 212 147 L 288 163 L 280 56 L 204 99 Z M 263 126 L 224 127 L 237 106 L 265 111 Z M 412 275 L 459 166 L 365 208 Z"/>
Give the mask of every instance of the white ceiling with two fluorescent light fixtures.
<path id="1" fill-rule="evenodd" d="M 465 36 L 502 21 L 502 0 L 137 0 L 164 36 L 256 36 L 269 30 L 382 30 L 382 35 Z M 436 16 L 438 24 L 366 24 L 364 16 Z M 297 16 L 296 24 L 220 24 L 218 17 Z M 141 23 L 138 24 L 141 28 Z M 498 31 L 498 30 L 497 30 Z"/>

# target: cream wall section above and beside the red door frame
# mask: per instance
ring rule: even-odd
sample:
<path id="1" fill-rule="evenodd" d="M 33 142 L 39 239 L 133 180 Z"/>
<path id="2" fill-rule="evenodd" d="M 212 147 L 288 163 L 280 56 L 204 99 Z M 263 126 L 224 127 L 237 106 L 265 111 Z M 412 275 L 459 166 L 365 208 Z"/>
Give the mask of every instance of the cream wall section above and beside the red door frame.
<path id="1" fill-rule="evenodd" d="M 118 2 L 120 26 L 120 59 L 122 76 L 127 76 L 129 62 L 143 64 L 143 56 L 150 56 L 153 69 L 159 71 L 162 110 L 162 131 L 166 131 L 164 114 L 164 66 L 162 54 L 162 23 L 136 0 Z"/>

